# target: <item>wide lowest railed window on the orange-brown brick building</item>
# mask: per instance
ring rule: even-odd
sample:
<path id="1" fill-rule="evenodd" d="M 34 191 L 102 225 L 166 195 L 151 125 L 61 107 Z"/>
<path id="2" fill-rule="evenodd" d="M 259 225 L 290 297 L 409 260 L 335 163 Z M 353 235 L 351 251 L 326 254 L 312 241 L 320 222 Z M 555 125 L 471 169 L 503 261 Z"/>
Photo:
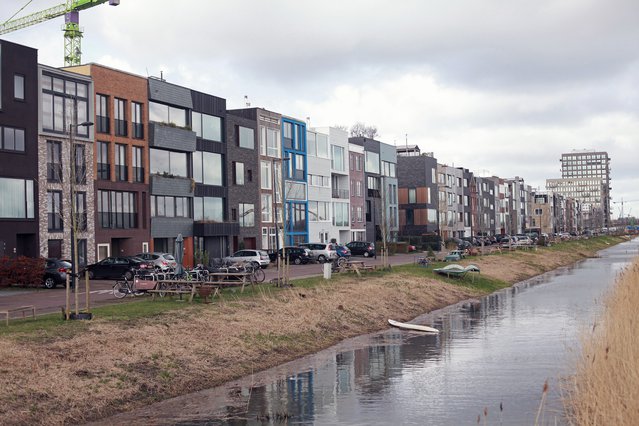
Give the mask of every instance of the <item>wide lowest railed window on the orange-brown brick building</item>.
<path id="1" fill-rule="evenodd" d="M 102 228 L 137 228 L 135 192 L 98 191 L 98 221 Z"/>

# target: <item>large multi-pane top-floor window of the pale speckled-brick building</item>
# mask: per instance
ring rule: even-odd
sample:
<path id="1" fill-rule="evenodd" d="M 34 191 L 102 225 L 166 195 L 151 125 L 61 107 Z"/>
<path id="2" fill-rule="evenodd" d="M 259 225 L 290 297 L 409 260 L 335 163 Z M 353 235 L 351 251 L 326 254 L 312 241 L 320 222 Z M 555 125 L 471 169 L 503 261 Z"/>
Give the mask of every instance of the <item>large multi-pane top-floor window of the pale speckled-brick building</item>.
<path id="1" fill-rule="evenodd" d="M 42 128 L 45 131 L 66 133 L 70 124 L 89 121 L 88 85 L 42 75 Z M 77 116 L 76 116 L 77 113 Z M 88 126 L 78 126 L 80 136 L 88 136 Z"/>

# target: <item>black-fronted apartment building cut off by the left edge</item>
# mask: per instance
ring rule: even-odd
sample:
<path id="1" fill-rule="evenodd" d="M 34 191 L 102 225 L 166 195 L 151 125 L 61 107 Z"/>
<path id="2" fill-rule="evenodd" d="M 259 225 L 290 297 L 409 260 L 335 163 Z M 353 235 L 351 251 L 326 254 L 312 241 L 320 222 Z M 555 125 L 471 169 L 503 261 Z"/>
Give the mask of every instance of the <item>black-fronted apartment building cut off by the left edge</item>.
<path id="1" fill-rule="evenodd" d="M 37 51 L 0 40 L 0 256 L 40 254 L 38 79 Z"/>

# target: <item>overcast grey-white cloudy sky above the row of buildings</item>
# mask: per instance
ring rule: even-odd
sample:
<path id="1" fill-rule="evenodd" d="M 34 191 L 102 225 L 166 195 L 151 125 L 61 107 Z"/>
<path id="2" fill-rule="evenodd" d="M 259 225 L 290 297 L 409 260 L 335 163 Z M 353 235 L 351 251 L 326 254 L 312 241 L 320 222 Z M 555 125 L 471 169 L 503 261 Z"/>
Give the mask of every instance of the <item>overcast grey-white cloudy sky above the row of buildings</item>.
<path id="1" fill-rule="evenodd" d="M 26 3 L 2 1 L 0 21 Z M 2 37 L 62 66 L 63 21 Z M 479 175 L 543 190 L 562 153 L 607 151 L 613 217 L 622 199 L 639 216 L 637 0 L 121 0 L 80 25 L 83 62 L 311 127 L 361 121 Z"/>

